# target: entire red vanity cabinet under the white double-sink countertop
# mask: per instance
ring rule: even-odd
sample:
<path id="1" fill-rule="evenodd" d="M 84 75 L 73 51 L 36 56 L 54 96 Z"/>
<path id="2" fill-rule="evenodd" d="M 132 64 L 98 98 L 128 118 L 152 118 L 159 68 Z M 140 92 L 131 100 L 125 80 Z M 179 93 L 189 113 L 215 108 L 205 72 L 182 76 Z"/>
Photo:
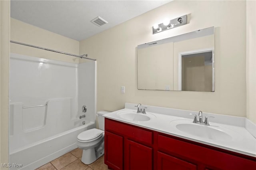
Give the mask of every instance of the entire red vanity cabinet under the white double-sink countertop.
<path id="1" fill-rule="evenodd" d="M 256 158 L 105 118 L 113 170 L 250 170 Z"/>

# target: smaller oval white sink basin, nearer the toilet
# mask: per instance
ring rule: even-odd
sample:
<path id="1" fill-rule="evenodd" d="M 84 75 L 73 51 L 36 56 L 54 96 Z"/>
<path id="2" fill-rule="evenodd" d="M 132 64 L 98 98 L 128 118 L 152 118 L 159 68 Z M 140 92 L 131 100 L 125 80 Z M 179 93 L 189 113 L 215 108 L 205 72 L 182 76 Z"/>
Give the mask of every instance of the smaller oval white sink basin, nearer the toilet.
<path id="1" fill-rule="evenodd" d="M 121 111 L 117 115 L 127 121 L 149 121 L 154 115 L 150 113 L 142 114 L 135 111 Z"/>

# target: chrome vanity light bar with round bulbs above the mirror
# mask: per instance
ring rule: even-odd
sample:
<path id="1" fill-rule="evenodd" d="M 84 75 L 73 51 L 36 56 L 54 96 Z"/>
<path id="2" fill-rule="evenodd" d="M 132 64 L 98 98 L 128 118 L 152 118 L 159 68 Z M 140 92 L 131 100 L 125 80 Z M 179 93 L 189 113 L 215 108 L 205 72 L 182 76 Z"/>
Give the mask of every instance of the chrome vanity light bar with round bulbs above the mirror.
<path id="1" fill-rule="evenodd" d="M 166 19 L 161 24 L 154 24 L 154 26 L 152 27 L 152 30 L 153 30 L 153 34 L 156 34 L 158 32 L 169 30 L 171 28 L 175 28 L 185 24 L 187 24 L 187 15 L 175 18 L 173 20 Z"/>

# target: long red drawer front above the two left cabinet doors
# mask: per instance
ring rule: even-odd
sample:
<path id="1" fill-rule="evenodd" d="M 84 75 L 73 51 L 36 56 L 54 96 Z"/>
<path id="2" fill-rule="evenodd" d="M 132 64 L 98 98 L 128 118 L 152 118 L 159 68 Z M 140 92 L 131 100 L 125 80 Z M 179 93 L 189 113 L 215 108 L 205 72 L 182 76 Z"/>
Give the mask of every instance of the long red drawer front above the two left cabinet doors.
<path id="1" fill-rule="evenodd" d="M 134 127 L 126 123 L 120 123 L 105 118 L 105 130 L 126 136 L 134 141 L 152 144 L 153 143 L 153 132 L 140 127 Z"/>

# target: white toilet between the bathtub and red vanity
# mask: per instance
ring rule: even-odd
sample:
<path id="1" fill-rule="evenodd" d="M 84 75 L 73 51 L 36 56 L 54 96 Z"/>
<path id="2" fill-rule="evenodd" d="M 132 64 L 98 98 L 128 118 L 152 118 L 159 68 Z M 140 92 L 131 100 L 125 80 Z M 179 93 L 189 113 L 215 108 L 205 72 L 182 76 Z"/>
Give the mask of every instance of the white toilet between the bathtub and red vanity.
<path id="1" fill-rule="evenodd" d="M 77 136 L 77 146 L 83 150 L 81 161 L 84 164 L 91 164 L 104 154 L 104 117 L 102 115 L 109 113 L 99 111 L 98 123 L 99 128 L 92 128 L 81 132 Z"/>

